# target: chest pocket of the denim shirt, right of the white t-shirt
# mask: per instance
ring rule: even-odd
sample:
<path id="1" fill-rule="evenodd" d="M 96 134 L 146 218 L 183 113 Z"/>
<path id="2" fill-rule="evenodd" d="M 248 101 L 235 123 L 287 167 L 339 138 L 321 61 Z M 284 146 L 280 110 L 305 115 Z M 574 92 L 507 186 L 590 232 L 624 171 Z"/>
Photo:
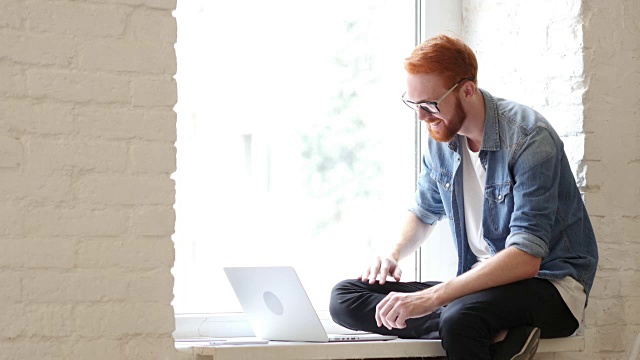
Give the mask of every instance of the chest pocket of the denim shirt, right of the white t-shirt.
<path id="1" fill-rule="evenodd" d="M 513 185 L 510 181 L 487 185 L 484 190 L 485 237 L 506 238 L 509 235 L 509 224 L 513 213 Z M 492 233 L 486 233 L 486 225 L 490 225 Z"/>

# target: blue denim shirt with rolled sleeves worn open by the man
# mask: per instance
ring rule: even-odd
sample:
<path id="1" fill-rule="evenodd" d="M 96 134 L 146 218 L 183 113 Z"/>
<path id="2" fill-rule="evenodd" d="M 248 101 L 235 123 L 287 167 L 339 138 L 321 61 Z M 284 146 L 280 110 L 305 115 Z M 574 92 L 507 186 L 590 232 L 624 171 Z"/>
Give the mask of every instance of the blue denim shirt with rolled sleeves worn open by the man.
<path id="1" fill-rule="evenodd" d="M 485 124 L 480 161 L 486 170 L 482 231 L 492 255 L 513 246 L 542 259 L 537 277 L 571 276 L 589 295 L 598 249 L 562 140 L 539 113 L 481 90 Z M 464 218 L 461 135 L 429 138 L 422 156 L 416 205 L 422 222 L 449 219 L 458 275 L 471 269 Z"/>

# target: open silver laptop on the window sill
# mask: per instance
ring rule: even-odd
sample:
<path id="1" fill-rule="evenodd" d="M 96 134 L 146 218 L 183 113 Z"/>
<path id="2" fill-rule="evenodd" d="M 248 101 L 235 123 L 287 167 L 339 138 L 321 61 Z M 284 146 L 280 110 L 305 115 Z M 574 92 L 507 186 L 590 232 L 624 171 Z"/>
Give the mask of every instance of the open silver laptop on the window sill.
<path id="1" fill-rule="evenodd" d="M 371 333 L 327 334 L 293 267 L 226 267 L 224 272 L 258 338 L 309 342 L 397 338 Z"/>

